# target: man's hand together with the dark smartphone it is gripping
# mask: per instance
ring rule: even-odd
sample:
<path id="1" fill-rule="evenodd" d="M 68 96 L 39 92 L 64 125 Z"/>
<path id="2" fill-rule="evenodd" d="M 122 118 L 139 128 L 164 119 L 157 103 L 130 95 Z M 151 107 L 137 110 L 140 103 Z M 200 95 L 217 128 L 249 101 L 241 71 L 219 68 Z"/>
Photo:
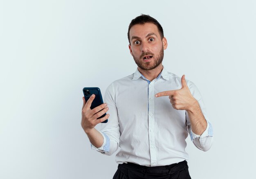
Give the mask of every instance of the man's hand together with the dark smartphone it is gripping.
<path id="1" fill-rule="evenodd" d="M 98 87 L 83 88 L 83 108 L 81 125 L 84 130 L 90 130 L 98 123 L 107 123 L 109 114 L 108 107 L 103 103 L 100 89 Z"/>

